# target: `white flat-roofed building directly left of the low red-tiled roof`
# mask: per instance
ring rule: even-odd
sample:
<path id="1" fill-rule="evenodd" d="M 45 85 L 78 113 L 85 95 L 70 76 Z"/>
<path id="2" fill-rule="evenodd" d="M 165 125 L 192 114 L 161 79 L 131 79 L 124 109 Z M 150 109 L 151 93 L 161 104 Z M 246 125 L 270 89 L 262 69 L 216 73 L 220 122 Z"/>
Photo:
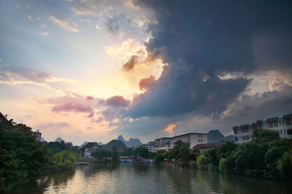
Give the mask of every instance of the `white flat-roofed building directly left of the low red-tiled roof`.
<path id="1" fill-rule="evenodd" d="M 194 147 L 198 143 L 208 143 L 208 134 L 207 133 L 186 133 L 183 135 L 178 135 L 171 137 L 170 139 L 170 148 L 173 148 L 174 142 L 182 140 L 183 142 L 190 143 L 190 148 Z"/>

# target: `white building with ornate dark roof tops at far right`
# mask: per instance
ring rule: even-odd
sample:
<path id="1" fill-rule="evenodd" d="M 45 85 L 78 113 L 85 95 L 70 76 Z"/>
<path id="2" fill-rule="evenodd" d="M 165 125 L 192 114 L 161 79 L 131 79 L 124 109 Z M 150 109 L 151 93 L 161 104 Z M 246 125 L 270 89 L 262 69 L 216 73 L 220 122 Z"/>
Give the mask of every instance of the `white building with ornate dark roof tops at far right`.
<path id="1" fill-rule="evenodd" d="M 271 117 L 263 121 L 257 120 L 252 124 L 244 124 L 241 126 L 234 126 L 234 141 L 236 144 L 251 141 L 251 136 L 255 129 L 273 129 L 279 132 L 281 138 L 292 138 L 292 114 L 284 114 L 283 117 Z"/>

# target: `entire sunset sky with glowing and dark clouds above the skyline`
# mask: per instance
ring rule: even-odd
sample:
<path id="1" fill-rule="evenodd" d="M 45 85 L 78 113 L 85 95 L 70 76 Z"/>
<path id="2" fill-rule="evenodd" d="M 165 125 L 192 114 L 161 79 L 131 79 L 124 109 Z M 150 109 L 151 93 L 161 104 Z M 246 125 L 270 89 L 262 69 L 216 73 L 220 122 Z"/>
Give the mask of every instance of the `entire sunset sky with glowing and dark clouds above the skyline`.
<path id="1" fill-rule="evenodd" d="M 292 113 L 291 1 L 0 1 L 0 112 L 81 145 Z"/>

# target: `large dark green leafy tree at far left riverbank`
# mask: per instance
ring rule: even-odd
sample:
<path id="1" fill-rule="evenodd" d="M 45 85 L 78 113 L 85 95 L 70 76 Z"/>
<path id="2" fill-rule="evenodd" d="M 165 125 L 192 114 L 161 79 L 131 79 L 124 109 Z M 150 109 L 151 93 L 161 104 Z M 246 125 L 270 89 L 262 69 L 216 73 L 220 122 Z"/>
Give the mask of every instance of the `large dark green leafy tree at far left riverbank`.
<path id="1" fill-rule="evenodd" d="M 53 162 L 51 150 L 32 136 L 31 128 L 13 119 L 0 123 L 0 192 L 38 179 Z"/>

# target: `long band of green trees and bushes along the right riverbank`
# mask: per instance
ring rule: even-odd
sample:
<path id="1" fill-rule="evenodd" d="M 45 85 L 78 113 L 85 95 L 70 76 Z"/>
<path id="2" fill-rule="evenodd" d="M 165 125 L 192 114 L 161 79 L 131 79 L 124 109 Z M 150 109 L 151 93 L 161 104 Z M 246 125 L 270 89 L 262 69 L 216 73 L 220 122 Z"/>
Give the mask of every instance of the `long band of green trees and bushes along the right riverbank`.
<path id="1" fill-rule="evenodd" d="M 292 181 L 292 139 L 281 139 L 274 130 L 256 129 L 250 142 L 226 141 L 203 153 L 189 148 L 189 143 L 179 140 L 170 151 L 158 152 L 155 161 L 167 159 L 182 167 Z"/>

